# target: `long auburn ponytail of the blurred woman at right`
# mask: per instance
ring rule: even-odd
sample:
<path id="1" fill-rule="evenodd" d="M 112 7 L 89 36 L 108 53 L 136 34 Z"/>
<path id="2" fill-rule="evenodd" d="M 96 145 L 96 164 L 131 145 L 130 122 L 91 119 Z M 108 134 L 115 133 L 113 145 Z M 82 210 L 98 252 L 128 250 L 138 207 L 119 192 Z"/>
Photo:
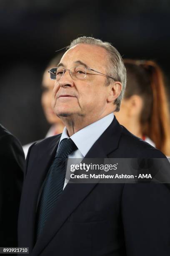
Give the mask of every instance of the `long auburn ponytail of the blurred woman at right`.
<path id="1" fill-rule="evenodd" d="M 124 60 L 124 62 L 125 66 L 126 64 L 137 65 L 140 69 L 144 69 L 145 75 L 148 76 L 149 84 L 146 83 L 146 88 L 148 86 L 151 88 L 152 95 L 150 95 L 150 99 L 152 99 L 152 104 L 150 105 L 149 116 L 147 120 L 145 120 L 145 109 L 147 108 L 146 104 L 148 103 L 148 97 L 143 93 L 145 99 L 143 97 L 144 107 L 143 112 L 141 113 L 141 120 L 145 121 L 141 122 L 142 131 L 144 135 L 153 140 L 156 148 L 162 151 L 165 155 L 170 156 L 170 115 L 165 84 L 163 81 L 163 73 L 154 61 L 135 61 L 127 59 Z M 145 84 L 141 84 L 140 87 L 141 86 L 145 88 Z M 140 95 L 140 93 L 137 94 Z M 142 95 L 140 96 L 142 97 Z"/>

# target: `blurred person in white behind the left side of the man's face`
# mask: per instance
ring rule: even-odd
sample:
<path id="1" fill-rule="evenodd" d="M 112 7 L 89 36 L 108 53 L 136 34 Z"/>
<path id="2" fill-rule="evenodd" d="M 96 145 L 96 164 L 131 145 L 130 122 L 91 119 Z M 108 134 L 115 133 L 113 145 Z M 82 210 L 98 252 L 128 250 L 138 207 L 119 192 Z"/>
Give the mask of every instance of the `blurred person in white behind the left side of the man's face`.
<path id="1" fill-rule="evenodd" d="M 60 59 L 62 57 L 63 53 L 57 54 L 50 63 L 48 64 L 47 68 L 45 69 L 45 72 L 42 77 L 42 97 L 41 97 L 41 104 L 42 108 L 44 110 L 45 118 L 48 123 L 50 123 L 51 127 L 49 131 L 47 132 L 45 138 L 57 135 L 62 133 L 64 129 L 64 124 L 62 123 L 61 119 L 55 115 L 54 111 L 51 108 L 51 101 L 52 101 L 52 91 L 54 88 L 54 80 L 50 79 L 48 70 L 50 70 L 52 67 L 56 67 L 57 64 L 60 62 Z M 32 143 L 29 143 L 25 146 L 23 146 L 25 158 L 28 153 L 28 149 Z"/>

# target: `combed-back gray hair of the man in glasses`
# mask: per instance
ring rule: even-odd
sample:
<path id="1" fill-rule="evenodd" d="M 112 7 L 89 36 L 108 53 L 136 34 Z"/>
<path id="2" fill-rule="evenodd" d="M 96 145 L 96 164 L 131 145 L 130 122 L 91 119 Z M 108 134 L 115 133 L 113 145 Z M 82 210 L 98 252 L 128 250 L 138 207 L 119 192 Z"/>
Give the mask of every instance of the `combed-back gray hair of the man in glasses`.
<path id="1" fill-rule="evenodd" d="M 115 49 L 115 47 L 112 46 L 112 44 L 108 42 L 103 42 L 100 39 L 86 36 L 78 37 L 75 40 L 73 40 L 70 46 L 67 47 L 67 49 L 70 49 L 77 44 L 97 45 L 104 48 L 107 51 L 108 57 L 110 59 L 110 63 L 107 66 L 107 75 L 113 77 L 115 81 L 119 81 L 122 83 L 122 91 L 120 92 L 119 97 L 117 97 L 117 99 L 114 102 L 114 104 L 116 104 L 115 111 L 119 111 L 120 103 L 126 87 L 126 68 L 120 53 L 117 51 L 117 49 Z M 107 77 L 106 85 L 108 86 L 111 82 L 112 79 Z"/>

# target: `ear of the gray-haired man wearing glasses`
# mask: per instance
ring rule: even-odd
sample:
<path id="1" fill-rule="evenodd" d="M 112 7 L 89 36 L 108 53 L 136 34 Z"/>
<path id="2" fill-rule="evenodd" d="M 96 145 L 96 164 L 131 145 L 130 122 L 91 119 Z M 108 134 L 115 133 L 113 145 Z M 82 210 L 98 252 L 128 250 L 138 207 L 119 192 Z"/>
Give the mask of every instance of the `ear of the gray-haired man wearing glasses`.
<path id="1" fill-rule="evenodd" d="M 110 91 L 109 95 L 107 96 L 107 102 L 114 102 L 120 95 L 122 90 L 121 82 L 113 82 L 109 85 Z"/>

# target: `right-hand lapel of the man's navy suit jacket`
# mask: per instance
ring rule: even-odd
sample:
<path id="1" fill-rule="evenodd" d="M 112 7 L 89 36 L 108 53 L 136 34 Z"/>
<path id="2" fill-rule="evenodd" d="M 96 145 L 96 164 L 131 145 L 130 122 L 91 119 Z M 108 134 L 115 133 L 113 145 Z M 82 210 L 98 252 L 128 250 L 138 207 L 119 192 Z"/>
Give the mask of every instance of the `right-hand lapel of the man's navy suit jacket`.
<path id="1" fill-rule="evenodd" d="M 120 125 L 114 118 L 107 130 L 94 143 L 92 148 L 90 148 L 85 158 L 107 158 L 107 154 L 117 148 L 120 134 Z M 41 251 L 45 248 L 45 246 L 47 246 L 50 240 L 52 240 L 61 226 L 65 223 L 69 215 L 82 202 L 82 200 L 87 197 L 95 186 L 96 183 L 78 184 L 68 182 L 61 196 L 57 200 L 55 207 L 50 213 L 42 233 L 35 243 L 35 247 L 33 248 L 31 254 L 32 256 L 39 255 L 41 253 Z M 35 216 L 32 216 L 32 219 L 35 219 Z"/>

